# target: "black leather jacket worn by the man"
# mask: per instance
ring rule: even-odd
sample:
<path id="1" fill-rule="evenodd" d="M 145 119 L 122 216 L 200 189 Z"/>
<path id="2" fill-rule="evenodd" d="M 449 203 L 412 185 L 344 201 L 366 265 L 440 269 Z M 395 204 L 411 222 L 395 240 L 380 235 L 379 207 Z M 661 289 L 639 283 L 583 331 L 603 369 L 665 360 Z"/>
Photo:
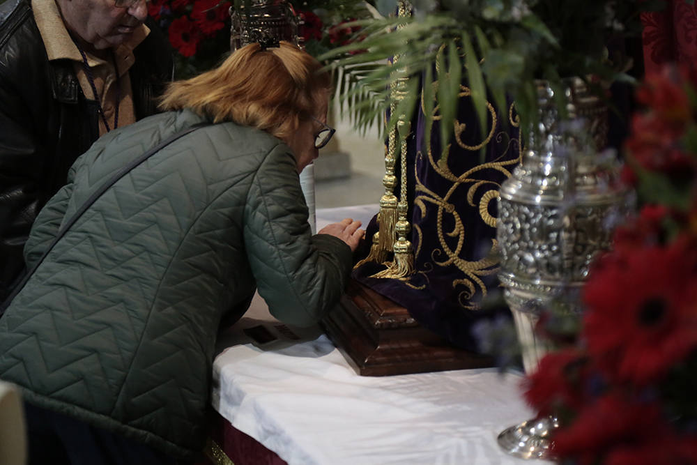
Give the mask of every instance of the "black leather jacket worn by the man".
<path id="1" fill-rule="evenodd" d="M 154 24 L 129 71 L 136 119 L 154 114 L 171 80 L 171 47 Z M 94 100 L 69 60 L 48 61 L 29 0 L 0 4 L 0 302 L 24 268 L 22 250 L 36 214 L 68 169 L 98 138 Z"/>

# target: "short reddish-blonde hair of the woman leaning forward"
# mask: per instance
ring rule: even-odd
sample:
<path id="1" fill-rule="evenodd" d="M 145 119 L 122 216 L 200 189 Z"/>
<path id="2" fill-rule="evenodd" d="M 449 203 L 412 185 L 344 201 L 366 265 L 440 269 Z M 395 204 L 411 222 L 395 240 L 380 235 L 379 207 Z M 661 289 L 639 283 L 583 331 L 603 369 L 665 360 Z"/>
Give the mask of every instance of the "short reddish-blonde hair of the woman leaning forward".
<path id="1" fill-rule="evenodd" d="M 213 70 L 172 82 L 160 109 L 188 108 L 215 123 L 234 121 L 286 139 L 316 113 L 332 82 L 312 56 L 291 43 L 279 45 L 261 50 L 252 43 Z"/>

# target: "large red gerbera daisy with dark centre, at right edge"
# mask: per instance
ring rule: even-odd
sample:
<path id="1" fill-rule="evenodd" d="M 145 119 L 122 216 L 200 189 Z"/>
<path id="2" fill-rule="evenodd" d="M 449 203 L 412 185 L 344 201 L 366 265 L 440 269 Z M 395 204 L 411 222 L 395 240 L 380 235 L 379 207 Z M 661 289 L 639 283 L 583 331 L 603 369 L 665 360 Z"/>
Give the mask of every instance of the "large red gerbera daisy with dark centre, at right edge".
<path id="1" fill-rule="evenodd" d="M 615 250 L 584 289 L 583 337 L 608 376 L 643 386 L 697 347 L 697 247 Z"/>

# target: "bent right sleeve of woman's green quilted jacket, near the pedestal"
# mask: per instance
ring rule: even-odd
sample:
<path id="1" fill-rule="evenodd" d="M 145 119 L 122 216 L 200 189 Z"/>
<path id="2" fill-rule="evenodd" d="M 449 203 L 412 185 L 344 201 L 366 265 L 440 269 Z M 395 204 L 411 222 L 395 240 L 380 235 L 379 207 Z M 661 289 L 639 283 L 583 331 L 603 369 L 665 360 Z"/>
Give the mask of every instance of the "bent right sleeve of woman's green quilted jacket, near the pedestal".
<path id="1" fill-rule="evenodd" d="M 247 258 L 259 295 L 274 317 L 296 326 L 321 319 L 339 300 L 351 271 L 351 248 L 312 236 L 289 148 L 273 148 L 254 176 L 245 206 Z"/>

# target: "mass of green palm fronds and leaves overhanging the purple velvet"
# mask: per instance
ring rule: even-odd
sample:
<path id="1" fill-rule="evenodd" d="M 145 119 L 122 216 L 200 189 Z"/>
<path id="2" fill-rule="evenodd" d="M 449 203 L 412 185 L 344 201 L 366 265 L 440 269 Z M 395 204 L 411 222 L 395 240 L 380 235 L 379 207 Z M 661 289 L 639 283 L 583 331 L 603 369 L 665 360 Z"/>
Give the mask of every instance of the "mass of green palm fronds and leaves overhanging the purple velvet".
<path id="1" fill-rule="evenodd" d="M 624 63 L 608 59 L 607 40 L 636 35 L 639 11 L 657 8 L 658 1 L 441 0 L 436 5 L 433 0 L 414 0 L 413 16 L 354 22 L 361 28 L 355 40 L 319 58 L 341 70 L 339 100 L 360 128 L 381 121 L 378 115 L 390 109 L 388 89 L 399 81 L 407 89 L 422 89 L 425 114 L 438 107 L 446 146 L 463 77 L 482 127 L 487 99 L 505 109 L 509 97 L 527 127 L 537 114 L 536 79 L 546 79 L 556 88 L 562 77 L 627 79 L 620 73 Z M 390 4 L 394 10 L 396 2 L 376 4 L 386 12 Z M 370 68 L 363 67 L 368 64 Z M 399 108 L 413 112 L 420 98 L 418 91 L 403 96 Z M 395 113 L 392 125 L 406 117 Z M 427 118 L 427 138 L 431 123 Z"/>

